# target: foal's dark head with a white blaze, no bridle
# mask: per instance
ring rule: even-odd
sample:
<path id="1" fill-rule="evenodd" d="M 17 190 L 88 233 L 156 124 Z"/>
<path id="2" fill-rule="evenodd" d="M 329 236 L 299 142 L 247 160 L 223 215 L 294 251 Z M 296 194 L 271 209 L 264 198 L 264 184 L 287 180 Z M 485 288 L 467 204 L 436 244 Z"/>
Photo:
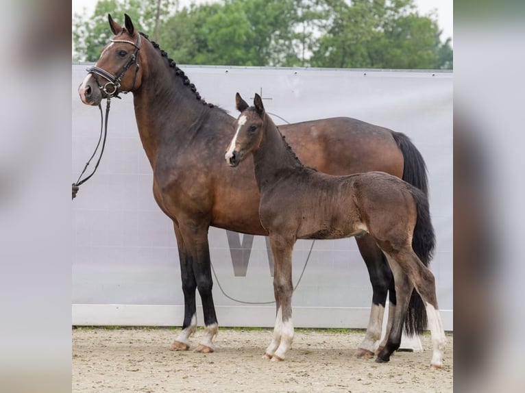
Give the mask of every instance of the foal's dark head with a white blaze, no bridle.
<path id="1" fill-rule="evenodd" d="M 235 103 L 241 115 L 234 123 L 235 135 L 224 155 L 230 166 L 238 166 L 248 153 L 259 147 L 265 127 L 265 107 L 259 94 L 255 94 L 252 107 L 248 106 L 239 93 L 235 95 Z"/>

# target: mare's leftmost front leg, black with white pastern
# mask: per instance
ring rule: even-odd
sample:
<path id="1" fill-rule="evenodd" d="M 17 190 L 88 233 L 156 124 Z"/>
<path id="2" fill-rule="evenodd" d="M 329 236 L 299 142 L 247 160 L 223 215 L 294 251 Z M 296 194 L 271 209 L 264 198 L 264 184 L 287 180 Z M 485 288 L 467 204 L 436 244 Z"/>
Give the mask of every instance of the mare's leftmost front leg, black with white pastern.
<path id="1" fill-rule="evenodd" d="M 187 351 L 190 348 L 189 337 L 197 330 L 197 313 L 195 306 L 197 282 L 193 275 L 191 258 L 186 251 L 180 229 L 176 223 L 174 223 L 173 227 L 175 228 L 175 236 L 179 249 L 180 276 L 182 279 L 182 293 L 184 294 L 184 321 L 182 322 L 182 331 L 173 344 L 171 344 L 170 349 L 172 351 Z"/>

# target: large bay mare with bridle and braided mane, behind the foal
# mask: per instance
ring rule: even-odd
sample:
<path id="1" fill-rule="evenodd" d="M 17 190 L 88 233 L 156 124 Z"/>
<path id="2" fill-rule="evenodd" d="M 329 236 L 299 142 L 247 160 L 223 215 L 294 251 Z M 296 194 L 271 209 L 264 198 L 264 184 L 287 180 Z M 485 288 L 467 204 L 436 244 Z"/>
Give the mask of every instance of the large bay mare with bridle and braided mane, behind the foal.
<path id="1" fill-rule="evenodd" d="M 259 192 L 252 164 L 232 171 L 223 164 L 223 147 L 234 133 L 235 118 L 206 103 L 188 77 L 156 42 L 134 29 L 125 15 L 121 27 L 108 16 L 114 38 L 103 48 L 95 66 L 78 88 L 87 105 L 132 92 L 138 132 L 153 170 L 153 193 L 160 209 L 173 220 L 177 238 L 184 321 L 173 350 L 190 348 L 197 328 L 195 291 L 204 312 L 205 333 L 196 348 L 212 352 L 217 316 L 212 299 L 208 245 L 210 226 L 266 236 L 258 216 Z M 427 193 L 426 167 L 421 154 L 401 133 L 353 118 L 327 118 L 284 125 L 282 134 L 308 166 L 323 173 L 345 175 L 381 170 Z M 350 154 L 352 152 L 352 154 Z M 356 239 L 373 289 L 367 333 L 357 357 L 374 356 L 380 342 L 384 305 L 395 309 L 392 272 L 371 236 Z M 420 244 L 413 244 L 424 264 Z M 389 314 L 388 326 L 393 323 Z M 416 292 L 411 296 L 405 329 L 426 328 L 426 309 Z"/>

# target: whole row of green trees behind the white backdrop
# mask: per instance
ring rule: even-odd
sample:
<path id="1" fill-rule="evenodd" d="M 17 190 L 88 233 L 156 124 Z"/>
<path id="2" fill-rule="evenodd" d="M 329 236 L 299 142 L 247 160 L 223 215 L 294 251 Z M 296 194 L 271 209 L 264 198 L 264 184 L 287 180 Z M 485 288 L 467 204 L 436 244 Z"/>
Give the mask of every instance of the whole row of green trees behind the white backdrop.
<path id="1" fill-rule="evenodd" d="M 182 64 L 337 68 L 452 68 L 450 39 L 414 0 L 99 0 L 75 15 L 74 60 L 95 61 L 110 39 L 107 15 L 132 17 Z M 157 27 L 157 28 L 156 28 Z M 159 28 L 160 27 L 160 28 Z"/>

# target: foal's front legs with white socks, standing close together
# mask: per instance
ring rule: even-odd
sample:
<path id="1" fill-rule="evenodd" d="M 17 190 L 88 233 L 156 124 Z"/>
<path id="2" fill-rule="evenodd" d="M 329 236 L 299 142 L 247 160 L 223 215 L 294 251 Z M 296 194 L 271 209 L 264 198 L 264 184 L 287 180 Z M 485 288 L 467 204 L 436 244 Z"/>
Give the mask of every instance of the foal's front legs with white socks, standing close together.
<path id="1" fill-rule="evenodd" d="M 286 351 L 293 341 L 292 322 L 292 251 L 295 239 L 270 233 L 270 245 L 273 253 L 273 294 L 276 297 L 276 325 L 273 338 L 266 349 L 265 357 L 273 362 L 284 360 Z"/>

